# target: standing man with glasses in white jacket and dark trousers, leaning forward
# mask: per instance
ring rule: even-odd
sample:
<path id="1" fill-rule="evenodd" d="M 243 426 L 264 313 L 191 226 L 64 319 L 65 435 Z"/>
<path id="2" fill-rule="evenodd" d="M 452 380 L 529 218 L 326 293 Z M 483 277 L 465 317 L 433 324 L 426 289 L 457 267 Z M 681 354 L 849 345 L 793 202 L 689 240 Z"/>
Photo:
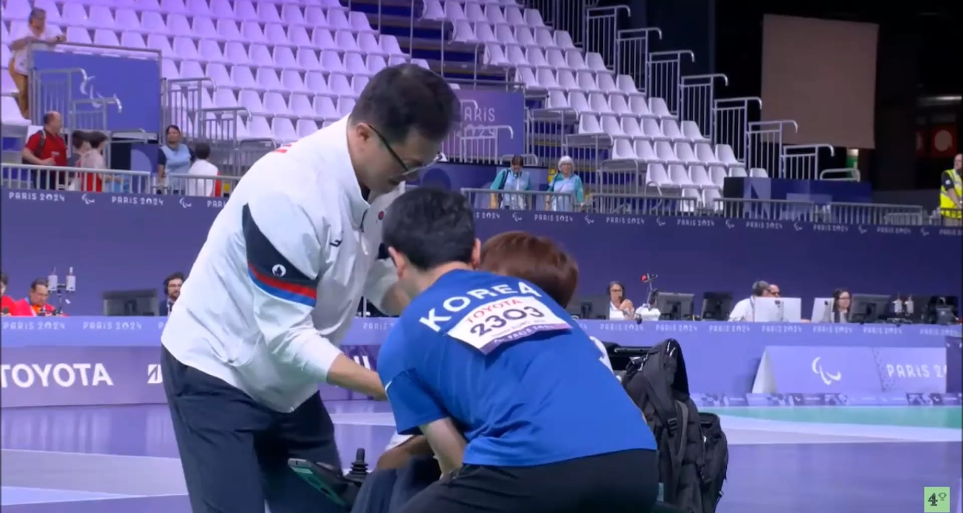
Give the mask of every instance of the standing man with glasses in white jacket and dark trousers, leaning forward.
<path id="1" fill-rule="evenodd" d="M 264 156 L 231 193 L 161 337 L 194 513 L 333 506 L 287 460 L 341 468 L 319 382 L 384 398 L 338 344 L 361 295 L 386 313 L 406 304 L 381 219 L 458 111 L 434 73 L 387 67 L 351 115 Z"/>

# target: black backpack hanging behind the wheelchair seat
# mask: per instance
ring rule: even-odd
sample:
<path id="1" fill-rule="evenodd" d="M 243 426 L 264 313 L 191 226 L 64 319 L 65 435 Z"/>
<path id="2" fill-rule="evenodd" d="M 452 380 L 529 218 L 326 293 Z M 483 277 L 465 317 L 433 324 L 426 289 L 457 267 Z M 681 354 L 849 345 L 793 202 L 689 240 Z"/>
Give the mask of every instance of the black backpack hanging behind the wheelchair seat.
<path id="1" fill-rule="evenodd" d="M 699 413 L 689 397 L 678 341 L 668 339 L 633 359 L 622 383 L 655 435 L 664 502 L 689 513 L 715 513 L 729 446 L 719 418 Z"/>

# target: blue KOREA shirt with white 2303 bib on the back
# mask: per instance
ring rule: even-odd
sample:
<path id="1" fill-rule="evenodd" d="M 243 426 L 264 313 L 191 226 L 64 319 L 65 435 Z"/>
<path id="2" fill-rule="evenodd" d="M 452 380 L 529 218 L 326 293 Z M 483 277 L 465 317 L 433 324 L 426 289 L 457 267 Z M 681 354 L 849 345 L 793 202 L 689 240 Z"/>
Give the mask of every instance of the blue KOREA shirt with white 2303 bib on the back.
<path id="1" fill-rule="evenodd" d="M 655 449 L 636 405 L 571 316 L 531 283 L 453 270 L 378 353 L 398 432 L 450 417 L 464 463 L 527 467 Z"/>

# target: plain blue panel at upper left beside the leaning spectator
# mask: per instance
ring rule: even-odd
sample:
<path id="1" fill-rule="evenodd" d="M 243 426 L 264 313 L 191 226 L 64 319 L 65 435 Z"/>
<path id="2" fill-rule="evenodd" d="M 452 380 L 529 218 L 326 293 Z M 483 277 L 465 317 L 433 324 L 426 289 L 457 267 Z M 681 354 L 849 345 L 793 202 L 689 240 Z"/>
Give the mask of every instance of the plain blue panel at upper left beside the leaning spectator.
<path id="1" fill-rule="evenodd" d="M 144 53 L 144 57 L 147 56 Z M 100 128 L 91 126 L 90 116 L 100 109 L 98 100 L 113 98 L 117 104 L 107 106 L 104 129 L 147 132 L 161 129 L 161 66 L 156 58 L 34 50 L 33 65 L 41 77 L 40 97 L 65 97 L 68 92 L 65 85 L 69 85 L 72 89 L 69 94 L 74 100 L 90 100 L 75 106 L 81 117 L 75 123 L 77 127 Z M 60 76 L 61 70 L 70 74 L 69 80 Z M 43 80 L 46 77 L 49 79 Z M 69 126 L 69 113 L 62 114 L 67 127 L 73 128 Z"/>

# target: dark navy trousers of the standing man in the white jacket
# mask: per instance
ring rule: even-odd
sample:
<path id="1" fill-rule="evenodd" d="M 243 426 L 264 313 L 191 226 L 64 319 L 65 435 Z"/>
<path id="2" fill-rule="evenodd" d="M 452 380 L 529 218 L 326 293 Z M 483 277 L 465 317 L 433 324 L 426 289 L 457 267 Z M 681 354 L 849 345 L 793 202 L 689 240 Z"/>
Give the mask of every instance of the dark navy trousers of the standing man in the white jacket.
<path id="1" fill-rule="evenodd" d="M 341 468 L 320 395 L 278 413 L 163 349 L 161 369 L 193 513 L 327 513 L 333 502 L 288 468 L 302 458 Z"/>

